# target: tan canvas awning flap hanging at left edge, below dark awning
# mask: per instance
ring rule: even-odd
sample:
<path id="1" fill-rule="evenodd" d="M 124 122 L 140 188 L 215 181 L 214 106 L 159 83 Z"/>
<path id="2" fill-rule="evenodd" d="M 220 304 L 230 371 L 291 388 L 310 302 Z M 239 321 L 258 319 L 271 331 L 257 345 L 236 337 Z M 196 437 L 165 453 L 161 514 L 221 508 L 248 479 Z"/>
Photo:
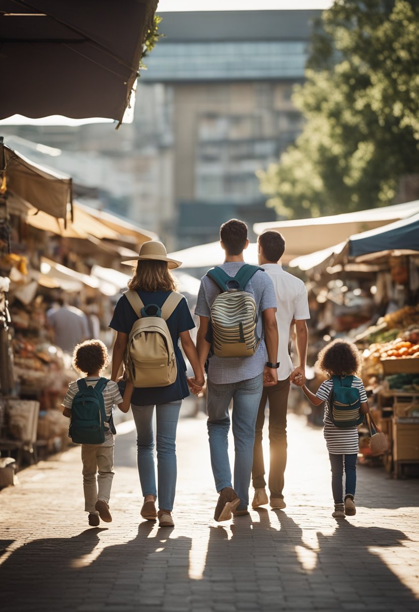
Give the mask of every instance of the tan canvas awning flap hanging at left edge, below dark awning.
<path id="1" fill-rule="evenodd" d="M 71 178 L 29 161 L 4 144 L 0 144 L 0 149 L 7 191 L 38 211 L 66 219 L 67 205 L 72 204 Z"/>

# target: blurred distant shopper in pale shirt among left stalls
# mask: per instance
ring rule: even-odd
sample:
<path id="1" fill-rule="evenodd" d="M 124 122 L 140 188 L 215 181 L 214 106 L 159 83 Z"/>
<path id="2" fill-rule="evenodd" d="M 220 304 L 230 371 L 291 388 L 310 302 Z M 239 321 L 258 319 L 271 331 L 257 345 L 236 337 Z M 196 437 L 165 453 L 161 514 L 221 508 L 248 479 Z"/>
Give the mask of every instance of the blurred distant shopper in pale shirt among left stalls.
<path id="1" fill-rule="evenodd" d="M 63 297 L 47 312 L 47 320 L 53 330 L 53 342 L 66 353 L 72 353 L 75 345 L 89 338 L 88 320 L 79 308 L 69 306 Z"/>

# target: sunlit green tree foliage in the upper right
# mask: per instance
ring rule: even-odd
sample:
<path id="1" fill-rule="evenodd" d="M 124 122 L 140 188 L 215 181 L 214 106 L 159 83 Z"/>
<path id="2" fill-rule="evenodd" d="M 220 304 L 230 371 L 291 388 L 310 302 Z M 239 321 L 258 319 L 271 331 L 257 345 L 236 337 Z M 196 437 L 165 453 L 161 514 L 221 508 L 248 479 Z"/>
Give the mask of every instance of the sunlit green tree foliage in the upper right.
<path id="1" fill-rule="evenodd" d="M 295 105 L 306 122 L 260 187 L 286 217 L 390 204 L 419 172 L 419 2 L 335 0 Z"/>

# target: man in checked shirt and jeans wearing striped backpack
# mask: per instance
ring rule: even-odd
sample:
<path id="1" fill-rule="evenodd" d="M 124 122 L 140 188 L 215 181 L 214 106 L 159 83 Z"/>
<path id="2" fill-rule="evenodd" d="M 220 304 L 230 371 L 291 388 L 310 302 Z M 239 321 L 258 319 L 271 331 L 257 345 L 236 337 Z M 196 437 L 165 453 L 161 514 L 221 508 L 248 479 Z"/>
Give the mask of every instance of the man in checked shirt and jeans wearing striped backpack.
<path id="1" fill-rule="evenodd" d="M 203 366 L 209 357 L 207 425 L 211 466 L 219 493 L 216 521 L 228 520 L 232 514 L 249 514 L 257 409 L 263 384 L 277 383 L 278 367 L 275 292 L 266 272 L 244 263 L 243 250 L 249 244 L 246 223 L 230 219 L 221 226 L 220 238 L 224 264 L 202 278 L 195 308 L 200 318 L 200 364 Z M 228 460 L 231 401 L 234 489 Z"/>

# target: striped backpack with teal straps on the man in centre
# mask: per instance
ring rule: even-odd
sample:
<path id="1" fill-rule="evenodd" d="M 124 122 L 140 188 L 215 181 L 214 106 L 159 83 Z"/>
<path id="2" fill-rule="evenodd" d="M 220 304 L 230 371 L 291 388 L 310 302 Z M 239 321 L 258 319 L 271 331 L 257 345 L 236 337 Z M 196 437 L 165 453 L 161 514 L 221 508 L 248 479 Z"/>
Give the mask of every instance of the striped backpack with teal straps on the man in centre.
<path id="1" fill-rule="evenodd" d="M 251 293 L 244 287 L 259 266 L 244 264 L 235 277 L 230 277 L 217 266 L 206 275 L 221 289 L 210 310 L 208 339 L 217 357 L 251 357 L 259 347 L 257 337 L 257 306 Z"/>

